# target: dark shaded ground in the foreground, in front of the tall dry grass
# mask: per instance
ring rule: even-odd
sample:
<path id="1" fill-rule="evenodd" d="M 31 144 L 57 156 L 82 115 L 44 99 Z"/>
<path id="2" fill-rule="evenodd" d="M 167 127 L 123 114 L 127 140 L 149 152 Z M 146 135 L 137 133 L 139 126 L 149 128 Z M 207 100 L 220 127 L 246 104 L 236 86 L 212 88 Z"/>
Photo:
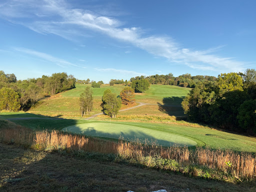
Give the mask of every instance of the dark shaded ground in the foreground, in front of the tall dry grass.
<path id="1" fill-rule="evenodd" d="M 0 143 L 0 191 L 256 191 L 255 186 Z"/>

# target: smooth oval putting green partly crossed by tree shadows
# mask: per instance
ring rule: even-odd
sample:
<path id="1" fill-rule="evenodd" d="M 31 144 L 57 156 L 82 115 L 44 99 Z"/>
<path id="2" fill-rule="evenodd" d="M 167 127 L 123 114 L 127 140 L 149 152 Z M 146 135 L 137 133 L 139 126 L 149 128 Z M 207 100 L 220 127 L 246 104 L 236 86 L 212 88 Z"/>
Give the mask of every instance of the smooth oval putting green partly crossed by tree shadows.
<path id="1" fill-rule="evenodd" d="M 127 140 L 134 138 L 139 138 L 141 140 L 148 139 L 149 141 L 157 140 L 157 143 L 162 146 L 170 146 L 174 144 L 180 146 L 194 146 L 197 144 L 192 139 L 176 134 L 120 123 L 88 122 L 84 124 L 67 126 L 62 130 L 74 133 L 82 133 L 88 136 L 119 138 L 121 135 L 124 137 L 124 139 Z"/>

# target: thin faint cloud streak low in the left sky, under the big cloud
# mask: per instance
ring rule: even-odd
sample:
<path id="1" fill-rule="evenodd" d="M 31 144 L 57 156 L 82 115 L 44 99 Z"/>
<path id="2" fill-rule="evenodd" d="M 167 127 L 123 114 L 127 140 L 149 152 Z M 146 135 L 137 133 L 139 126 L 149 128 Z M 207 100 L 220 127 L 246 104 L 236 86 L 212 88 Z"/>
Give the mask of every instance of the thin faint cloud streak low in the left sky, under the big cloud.
<path id="1" fill-rule="evenodd" d="M 23 48 L 23 47 L 14 47 L 13 49 L 16 50 L 16 51 L 19 51 L 19 52 L 23 52 L 23 53 L 26 53 L 26 54 L 36 56 L 37 58 L 40 58 L 40 59 L 42 59 L 44 61 L 47 61 L 47 62 L 57 64 L 58 66 L 61 66 L 61 67 L 76 66 L 76 67 L 85 68 L 84 66 L 78 66 L 78 65 L 73 64 L 71 62 L 68 62 L 64 59 L 54 57 L 54 56 L 52 56 L 50 54 L 46 54 L 44 52 L 39 52 L 39 51 L 35 51 L 35 50 L 32 50 L 32 49 Z"/>

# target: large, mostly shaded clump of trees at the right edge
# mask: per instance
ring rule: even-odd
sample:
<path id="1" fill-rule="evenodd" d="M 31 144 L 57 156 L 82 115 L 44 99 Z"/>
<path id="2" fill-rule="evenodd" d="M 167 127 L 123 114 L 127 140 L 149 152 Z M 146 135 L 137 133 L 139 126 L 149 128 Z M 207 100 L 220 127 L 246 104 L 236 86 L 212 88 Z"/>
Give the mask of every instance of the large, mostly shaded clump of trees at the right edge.
<path id="1" fill-rule="evenodd" d="M 192 121 L 255 135 L 256 70 L 221 73 L 215 81 L 201 81 L 181 104 Z"/>

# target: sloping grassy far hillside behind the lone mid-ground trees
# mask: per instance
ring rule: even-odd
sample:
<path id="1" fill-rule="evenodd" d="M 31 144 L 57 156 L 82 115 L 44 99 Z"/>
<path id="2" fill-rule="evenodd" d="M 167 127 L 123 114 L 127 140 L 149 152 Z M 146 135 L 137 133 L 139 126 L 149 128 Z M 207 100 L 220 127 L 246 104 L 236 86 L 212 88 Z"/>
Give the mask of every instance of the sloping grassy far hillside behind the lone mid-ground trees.
<path id="1" fill-rule="evenodd" d="M 42 114 L 46 116 L 79 118 L 79 95 L 86 86 L 90 84 L 76 84 L 76 88 L 67 90 L 57 95 L 46 97 L 34 106 L 28 112 Z M 92 88 L 94 105 L 90 115 L 101 112 L 101 96 L 105 89 L 110 88 L 117 95 L 120 93 L 124 85 L 109 86 L 101 85 L 100 88 Z M 184 115 L 180 106 L 180 102 L 188 93 L 189 88 L 171 86 L 171 85 L 151 85 L 143 94 L 136 93 L 135 100 L 139 102 L 152 103 L 156 105 L 145 105 L 142 108 L 134 108 L 123 111 L 120 114 L 154 114 L 154 115 Z M 163 106 L 158 106 L 161 104 Z M 173 106 L 165 106 L 173 105 Z M 128 106 L 122 105 L 121 109 Z"/>

